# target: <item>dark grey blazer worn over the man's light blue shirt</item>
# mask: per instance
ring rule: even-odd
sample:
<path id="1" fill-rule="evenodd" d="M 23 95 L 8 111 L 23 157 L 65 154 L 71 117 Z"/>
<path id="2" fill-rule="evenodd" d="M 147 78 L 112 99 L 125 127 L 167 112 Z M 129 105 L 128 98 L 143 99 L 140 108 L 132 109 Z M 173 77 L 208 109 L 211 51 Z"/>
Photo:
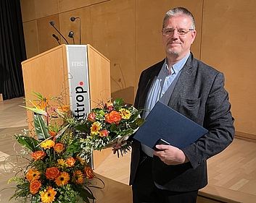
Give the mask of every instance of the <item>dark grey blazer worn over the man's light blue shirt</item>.
<path id="1" fill-rule="evenodd" d="M 136 108 L 144 108 L 149 88 L 163 63 L 164 60 L 141 73 L 134 103 Z M 189 163 L 166 165 L 159 157 L 153 157 L 152 173 L 158 188 L 194 191 L 207 185 L 206 160 L 223 151 L 234 139 L 234 118 L 224 81 L 223 73 L 194 59 L 190 54 L 168 105 L 204 126 L 208 132 L 197 142 L 181 149 Z M 133 184 L 139 165 L 140 142 L 133 140 L 132 149 L 130 185 Z"/>

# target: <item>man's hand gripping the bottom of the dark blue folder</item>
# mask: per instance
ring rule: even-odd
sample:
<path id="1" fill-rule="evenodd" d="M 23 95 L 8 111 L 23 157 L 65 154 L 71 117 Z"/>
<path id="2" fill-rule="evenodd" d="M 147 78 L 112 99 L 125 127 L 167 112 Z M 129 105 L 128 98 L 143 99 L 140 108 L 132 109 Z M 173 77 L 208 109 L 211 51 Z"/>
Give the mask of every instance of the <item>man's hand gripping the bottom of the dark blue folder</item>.
<path id="1" fill-rule="evenodd" d="M 160 157 L 160 160 L 167 165 L 178 165 L 189 162 L 183 151 L 177 147 L 165 144 L 158 144 L 156 147 L 159 151 L 154 151 L 154 155 Z"/>

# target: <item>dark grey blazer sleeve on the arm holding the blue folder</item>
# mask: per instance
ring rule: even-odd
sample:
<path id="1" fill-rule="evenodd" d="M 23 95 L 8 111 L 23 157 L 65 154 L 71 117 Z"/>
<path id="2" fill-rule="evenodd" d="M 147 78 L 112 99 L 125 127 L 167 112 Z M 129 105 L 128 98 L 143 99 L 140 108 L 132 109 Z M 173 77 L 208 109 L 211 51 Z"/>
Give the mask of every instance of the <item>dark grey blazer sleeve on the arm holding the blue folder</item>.
<path id="1" fill-rule="evenodd" d="M 203 125 L 208 130 L 207 134 L 182 149 L 193 168 L 223 151 L 234 139 L 234 118 L 224 83 L 224 75 L 218 72 L 210 87 L 203 112 Z"/>

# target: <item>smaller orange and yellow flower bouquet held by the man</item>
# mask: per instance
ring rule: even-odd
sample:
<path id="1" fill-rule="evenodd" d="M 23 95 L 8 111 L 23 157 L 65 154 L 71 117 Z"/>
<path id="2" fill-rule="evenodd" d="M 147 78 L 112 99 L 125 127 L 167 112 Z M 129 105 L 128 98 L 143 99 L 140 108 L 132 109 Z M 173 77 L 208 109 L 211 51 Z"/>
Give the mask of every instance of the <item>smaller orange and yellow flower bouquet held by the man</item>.
<path id="1" fill-rule="evenodd" d="M 99 103 L 88 113 L 86 119 L 76 126 L 83 134 L 81 137 L 84 137 L 81 147 L 85 152 L 90 152 L 121 144 L 117 157 L 123 155 L 131 149 L 131 141 L 128 138 L 144 124 L 144 118 L 139 116 L 141 111 L 125 104 L 122 98 Z"/>

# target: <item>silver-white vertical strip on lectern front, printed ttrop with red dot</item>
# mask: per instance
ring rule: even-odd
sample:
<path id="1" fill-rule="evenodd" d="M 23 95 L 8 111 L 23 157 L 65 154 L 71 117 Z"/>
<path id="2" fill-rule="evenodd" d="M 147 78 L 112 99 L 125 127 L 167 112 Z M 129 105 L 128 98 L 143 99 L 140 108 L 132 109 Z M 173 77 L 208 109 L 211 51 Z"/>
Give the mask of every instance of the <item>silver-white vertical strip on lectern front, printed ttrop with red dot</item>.
<path id="1" fill-rule="evenodd" d="M 75 118 L 82 119 L 90 112 L 87 46 L 67 45 L 66 48 L 70 108 Z"/>

